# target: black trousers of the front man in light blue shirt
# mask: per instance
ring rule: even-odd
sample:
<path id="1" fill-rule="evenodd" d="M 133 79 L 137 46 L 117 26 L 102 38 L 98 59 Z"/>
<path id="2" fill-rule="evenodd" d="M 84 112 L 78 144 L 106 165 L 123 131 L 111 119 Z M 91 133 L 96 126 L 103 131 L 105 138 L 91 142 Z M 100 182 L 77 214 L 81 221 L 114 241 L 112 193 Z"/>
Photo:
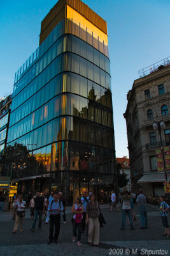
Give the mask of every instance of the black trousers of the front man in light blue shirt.
<path id="1" fill-rule="evenodd" d="M 55 232 L 53 235 L 53 226 L 55 227 Z M 57 241 L 60 234 L 60 214 L 50 214 L 50 234 L 49 240 Z"/>

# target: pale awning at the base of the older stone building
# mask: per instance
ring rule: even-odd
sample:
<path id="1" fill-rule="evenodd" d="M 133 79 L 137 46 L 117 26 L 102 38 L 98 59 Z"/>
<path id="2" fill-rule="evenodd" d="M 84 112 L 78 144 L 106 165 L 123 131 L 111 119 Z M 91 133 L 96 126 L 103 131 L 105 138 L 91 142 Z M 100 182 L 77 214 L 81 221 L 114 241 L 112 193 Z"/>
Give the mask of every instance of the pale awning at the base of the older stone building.
<path id="1" fill-rule="evenodd" d="M 166 180 L 164 172 L 143 173 L 143 177 L 138 180 L 138 183 L 163 182 L 164 180 Z M 170 172 L 167 172 L 167 180 L 170 180 Z"/>

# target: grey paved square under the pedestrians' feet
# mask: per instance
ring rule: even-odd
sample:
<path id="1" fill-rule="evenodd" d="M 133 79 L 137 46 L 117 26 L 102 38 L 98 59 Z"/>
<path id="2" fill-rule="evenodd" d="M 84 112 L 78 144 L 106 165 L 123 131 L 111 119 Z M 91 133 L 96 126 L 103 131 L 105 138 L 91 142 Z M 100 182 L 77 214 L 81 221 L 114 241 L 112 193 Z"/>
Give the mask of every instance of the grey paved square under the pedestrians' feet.
<path id="1" fill-rule="evenodd" d="M 125 230 L 120 230 L 122 222 L 122 212 L 109 212 L 108 205 L 101 205 L 106 225 L 101 228 L 101 243 L 98 247 L 89 246 L 87 237 L 82 234 L 82 246 L 72 243 L 72 225 L 71 225 L 71 207 L 67 207 L 67 223 L 61 224 L 58 244 L 48 245 L 48 228 L 49 225 L 42 225 L 42 230 L 38 231 L 36 226 L 35 232 L 30 231 L 32 220 L 30 220 L 29 209 L 26 210 L 24 218 L 23 232 L 19 230 L 17 234 L 12 234 L 14 222 L 11 220 L 11 212 L 0 212 L 0 255 L 132 255 L 131 249 L 138 248 L 138 255 L 141 250 L 169 250 L 170 239 L 162 236 L 164 228 L 159 216 L 159 212 L 148 205 L 148 229 L 140 230 L 138 205 L 135 207 L 137 214 L 137 223 L 135 230 L 130 230 L 128 223 Z M 170 220 L 169 220 L 170 222 Z M 37 223 L 38 225 L 38 223 Z M 122 248 L 122 250 L 120 250 Z M 113 250 L 112 250 L 113 249 Z M 127 251 L 125 251 L 127 249 Z M 128 249 L 130 251 L 128 251 Z M 126 254 L 125 254 L 126 252 Z M 110 254 L 109 254 L 110 253 Z M 141 254 L 141 255 L 147 255 Z M 154 254 L 152 254 L 154 255 Z M 155 255 L 160 255 L 156 253 Z M 164 254 L 166 255 L 166 254 Z"/>

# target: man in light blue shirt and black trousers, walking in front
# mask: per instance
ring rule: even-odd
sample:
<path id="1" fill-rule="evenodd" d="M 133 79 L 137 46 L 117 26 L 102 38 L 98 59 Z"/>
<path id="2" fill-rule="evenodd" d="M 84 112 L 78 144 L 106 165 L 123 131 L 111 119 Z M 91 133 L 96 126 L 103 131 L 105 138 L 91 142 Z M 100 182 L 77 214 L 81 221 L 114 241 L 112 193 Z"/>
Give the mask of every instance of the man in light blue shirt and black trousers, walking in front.
<path id="1" fill-rule="evenodd" d="M 63 211 L 62 202 L 59 200 L 59 195 L 53 195 L 53 200 L 48 204 L 48 212 L 50 212 L 50 230 L 49 241 L 50 243 L 57 243 L 60 234 L 60 212 Z M 55 227 L 53 234 L 53 226 Z"/>

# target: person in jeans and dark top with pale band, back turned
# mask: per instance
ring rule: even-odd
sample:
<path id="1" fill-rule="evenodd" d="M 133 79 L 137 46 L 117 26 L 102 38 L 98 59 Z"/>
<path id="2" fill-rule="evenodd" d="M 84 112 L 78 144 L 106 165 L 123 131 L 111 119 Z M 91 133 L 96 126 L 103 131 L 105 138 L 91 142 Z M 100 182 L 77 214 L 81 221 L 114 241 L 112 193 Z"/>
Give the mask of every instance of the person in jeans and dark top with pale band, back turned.
<path id="1" fill-rule="evenodd" d="M 132 223 L 132 214 L 131 214 L 131 196 L 128 195 L 128 191 L 124 191 L 124 195 L 122 196 L 122 227 L 121 230 L 125 230 L 125 218 L 126 214 L 129 217 L 131 230 L 134 230 Z"/>

